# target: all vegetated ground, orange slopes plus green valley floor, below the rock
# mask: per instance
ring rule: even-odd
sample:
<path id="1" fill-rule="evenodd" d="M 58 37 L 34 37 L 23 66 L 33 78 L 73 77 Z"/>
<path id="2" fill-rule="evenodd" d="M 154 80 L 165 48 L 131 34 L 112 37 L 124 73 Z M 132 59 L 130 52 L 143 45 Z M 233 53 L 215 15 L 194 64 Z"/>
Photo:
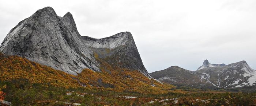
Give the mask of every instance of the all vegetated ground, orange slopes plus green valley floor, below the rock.
<path id="1" fill-rule="evenodd" d="M 138 71 L 114 70 L 74 76 L 18 56 L 0 54 L 0 100 L 8 106 L 253 106 L 256 93 L 175 87 Z M 122 80 L 123 79 L 123 80 Z M 124 80 L 125 79 L 125 80 Z M 5 105 L 5 104 L 8 105 Z"/>

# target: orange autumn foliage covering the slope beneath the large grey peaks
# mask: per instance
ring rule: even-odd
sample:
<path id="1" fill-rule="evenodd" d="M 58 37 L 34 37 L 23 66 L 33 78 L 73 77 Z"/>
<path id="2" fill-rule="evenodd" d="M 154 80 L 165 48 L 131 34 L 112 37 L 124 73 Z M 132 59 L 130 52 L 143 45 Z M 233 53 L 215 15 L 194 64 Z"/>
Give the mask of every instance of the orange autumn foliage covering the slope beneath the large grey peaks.
<path id="1" fill-rule="evenodd" d="M 97 88 L 118 92 L 166 93 L 172 85 L 161 84 L 144 76 L 137 70 L 113 68 L 107 62 L 98 60 L 102 72 L 84 69 L 77 76 L 54 70 L 19 56 L 6 56 L 0 59 L 0 80 L 14 81 L 23 79 L 42 86 L 62 88 Z"/>

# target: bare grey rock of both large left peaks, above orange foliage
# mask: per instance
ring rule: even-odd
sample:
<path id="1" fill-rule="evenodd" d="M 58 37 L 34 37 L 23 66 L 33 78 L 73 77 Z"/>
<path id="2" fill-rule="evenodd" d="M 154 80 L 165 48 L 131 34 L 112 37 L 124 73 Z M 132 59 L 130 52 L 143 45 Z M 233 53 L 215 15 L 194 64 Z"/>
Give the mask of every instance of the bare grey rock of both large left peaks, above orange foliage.
<path id="1" fill-rule="evenodd" d="M 112 56 L 109 61 L 117 67 L 140 70 L 150 77 L 130 32 L 103 39 L 81 36 L 71 13 L 60 17 L 51 7 L 39 9 L 20 21 L 0 46 L 4 54 L 22 56 L 73 75 L 84 68 L 101 71 L 94 53 L 102 50 L 111 52 L 99 55 L 100 58 Z"/>

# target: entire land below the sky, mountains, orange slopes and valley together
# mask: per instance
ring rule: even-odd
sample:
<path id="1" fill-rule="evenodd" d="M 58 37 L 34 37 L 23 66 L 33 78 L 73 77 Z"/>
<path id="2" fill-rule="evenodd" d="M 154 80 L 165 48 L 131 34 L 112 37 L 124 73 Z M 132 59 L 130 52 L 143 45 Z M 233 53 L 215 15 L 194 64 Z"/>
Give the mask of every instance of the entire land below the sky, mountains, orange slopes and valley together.
<path id="1" fill-rule="evenodd" d="M 82 36 L 70 12 L 51 7 L 20 21 L 0 46 L 1 106 L 254 106 L 255 81 L 245 61 L 149 74 L 131 32 Z"/>

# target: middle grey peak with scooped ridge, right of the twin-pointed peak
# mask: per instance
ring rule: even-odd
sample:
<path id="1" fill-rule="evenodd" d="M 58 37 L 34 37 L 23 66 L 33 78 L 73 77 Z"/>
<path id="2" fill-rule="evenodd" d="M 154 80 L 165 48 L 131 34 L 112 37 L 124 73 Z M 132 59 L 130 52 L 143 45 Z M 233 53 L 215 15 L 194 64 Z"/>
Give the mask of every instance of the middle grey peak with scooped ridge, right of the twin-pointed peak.
<path id="1" fill-rule="evenodd" d="M 82 36 L 82 39 L 86 46 L 97 54 L 98 58 L 106 60 L 112 66 L 139 70 L 151 78 L 142 63 L 130 32 L 121 32 L 102 39 Z"/>

